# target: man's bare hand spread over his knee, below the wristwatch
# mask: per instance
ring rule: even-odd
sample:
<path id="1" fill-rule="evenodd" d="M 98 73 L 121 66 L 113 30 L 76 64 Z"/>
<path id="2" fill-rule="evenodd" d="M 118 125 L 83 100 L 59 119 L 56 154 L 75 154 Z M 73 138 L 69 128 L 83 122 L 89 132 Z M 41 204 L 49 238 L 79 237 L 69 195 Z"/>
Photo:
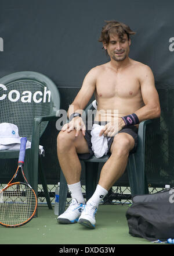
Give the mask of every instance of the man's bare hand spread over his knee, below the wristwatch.
<path id="1" fill-rule="evenodd" d="M 81 117 L 74 117 L 73 120 L 63 125 L 61 131 L 71 132 L 76 130 L 75 136 L 79 135 L 79 131 L 82 130 L 82 134 L 85 136 L 86 127 Z"/>

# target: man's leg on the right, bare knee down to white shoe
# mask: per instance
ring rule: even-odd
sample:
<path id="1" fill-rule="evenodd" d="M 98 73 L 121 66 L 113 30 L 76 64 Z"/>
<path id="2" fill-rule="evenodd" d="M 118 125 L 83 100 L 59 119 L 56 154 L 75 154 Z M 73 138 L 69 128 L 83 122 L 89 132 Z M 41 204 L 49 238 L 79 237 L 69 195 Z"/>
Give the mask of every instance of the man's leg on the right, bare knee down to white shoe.
<path id="1" fill-rule="evenodd" d="M 111 156 L 102 168 L 99 184 L 92 197 L 86 202 L 86 208 L 79 217 L 78 223 L 90 229 L 95 228 L 97 207 L 115 181 L 124 173 L 129 152 L 133 149 L 134 145 L 135 141 L 129 134 L 121 133 L 114 137 L 111 146 Z"/>

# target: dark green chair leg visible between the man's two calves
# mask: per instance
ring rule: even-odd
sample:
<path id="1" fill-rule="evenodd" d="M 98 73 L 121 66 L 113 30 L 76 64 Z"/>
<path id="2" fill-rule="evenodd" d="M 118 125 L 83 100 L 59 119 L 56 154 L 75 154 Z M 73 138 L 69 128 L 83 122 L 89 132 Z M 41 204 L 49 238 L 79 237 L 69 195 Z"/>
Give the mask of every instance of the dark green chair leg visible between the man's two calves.
<path id="1" fill-rule="evenodd" d="M 96 190 L 99 163 L 85 162 L 86 201 Z"/>

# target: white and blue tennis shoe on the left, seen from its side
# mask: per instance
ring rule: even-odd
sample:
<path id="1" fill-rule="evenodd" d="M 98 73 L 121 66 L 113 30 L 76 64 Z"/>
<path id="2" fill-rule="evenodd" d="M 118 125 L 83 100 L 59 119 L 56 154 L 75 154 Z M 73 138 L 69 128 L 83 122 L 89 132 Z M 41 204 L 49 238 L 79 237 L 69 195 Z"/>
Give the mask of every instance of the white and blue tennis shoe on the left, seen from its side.
<path id="1" fill-rule="evenodd" d="M 57 217 L 57 222 L 67 224 L 77 223 L 83 207 L 84 204 L 78 204 L 77 200 L 73 198 L 67 210 Z"/>

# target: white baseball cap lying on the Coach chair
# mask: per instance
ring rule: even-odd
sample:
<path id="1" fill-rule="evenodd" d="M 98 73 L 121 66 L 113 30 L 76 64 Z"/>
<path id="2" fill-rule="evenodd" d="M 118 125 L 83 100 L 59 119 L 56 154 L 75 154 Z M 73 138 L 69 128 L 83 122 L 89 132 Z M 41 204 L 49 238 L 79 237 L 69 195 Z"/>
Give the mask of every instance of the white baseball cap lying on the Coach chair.
<path id="1" fill-rule="evenodd" d="M 18 127 L 15 124 L 10 124 L 9 122 L 2 122 L 0 124 L 0 144 L 20 143 L 20 139 Z"/>

